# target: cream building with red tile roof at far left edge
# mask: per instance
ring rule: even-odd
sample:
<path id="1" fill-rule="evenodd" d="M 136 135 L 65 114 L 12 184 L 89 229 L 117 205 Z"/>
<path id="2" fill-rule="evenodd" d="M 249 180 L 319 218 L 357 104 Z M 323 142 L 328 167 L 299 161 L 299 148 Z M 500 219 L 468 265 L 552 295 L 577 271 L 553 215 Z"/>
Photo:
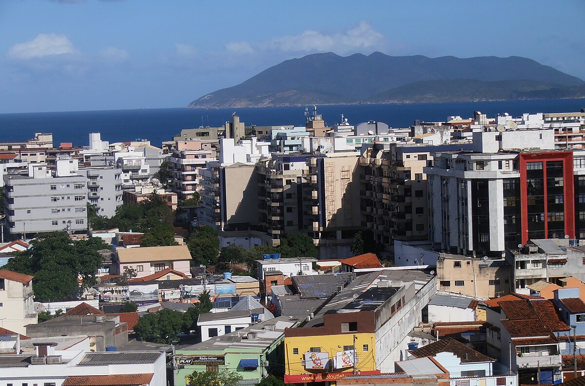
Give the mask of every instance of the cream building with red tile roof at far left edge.
<path id="1" fill-rule="evenodd" d="M 0 270 L 0 326 L 26 335 L 26 325 L 36 324 L 33 277 Z"/>

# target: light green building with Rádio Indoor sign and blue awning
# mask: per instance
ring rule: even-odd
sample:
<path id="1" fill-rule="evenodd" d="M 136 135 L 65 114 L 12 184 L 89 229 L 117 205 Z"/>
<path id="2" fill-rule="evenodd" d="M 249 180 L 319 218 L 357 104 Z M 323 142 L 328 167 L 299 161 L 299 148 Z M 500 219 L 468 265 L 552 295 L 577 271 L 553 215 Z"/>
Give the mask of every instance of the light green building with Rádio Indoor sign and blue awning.
<path id="1" fill-rule="evenodd" d="M 193 371 L 236 371 L 242 385 L 253 385 L 269 374 L 282 377 L 284 329 L 300 323 L 292 316 L 279 316 L 176 350 L 175 385 L 185 386 Z"/>

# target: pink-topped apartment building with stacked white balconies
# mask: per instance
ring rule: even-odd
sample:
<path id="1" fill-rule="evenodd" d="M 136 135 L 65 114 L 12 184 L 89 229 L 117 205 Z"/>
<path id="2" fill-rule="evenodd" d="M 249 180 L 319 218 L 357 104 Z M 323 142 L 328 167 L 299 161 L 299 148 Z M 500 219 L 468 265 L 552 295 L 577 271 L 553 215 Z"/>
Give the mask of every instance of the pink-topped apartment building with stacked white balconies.
<path id="1" fill-rule="evenodd" d="M 167 157 L 173 173 L 171 189 L 178 199 L 193 198 L 194 192 L 202 190 L 199 169 L 208 161 L 214 161 L 216 152 L 210 143 L 200 140 L 176 141 L 173 153 Z"/>

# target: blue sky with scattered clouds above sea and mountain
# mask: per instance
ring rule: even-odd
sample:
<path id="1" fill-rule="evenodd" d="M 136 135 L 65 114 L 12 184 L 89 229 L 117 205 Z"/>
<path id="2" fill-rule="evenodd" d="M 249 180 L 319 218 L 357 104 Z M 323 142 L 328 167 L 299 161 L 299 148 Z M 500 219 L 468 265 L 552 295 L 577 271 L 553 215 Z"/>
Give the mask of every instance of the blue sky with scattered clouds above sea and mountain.
<path id="1" fill-rule="evenodd" d="M 0 113 L 184 107 L 281 61 L 522 56 L 585 79 L 584 0 L 0 0 Z"/>

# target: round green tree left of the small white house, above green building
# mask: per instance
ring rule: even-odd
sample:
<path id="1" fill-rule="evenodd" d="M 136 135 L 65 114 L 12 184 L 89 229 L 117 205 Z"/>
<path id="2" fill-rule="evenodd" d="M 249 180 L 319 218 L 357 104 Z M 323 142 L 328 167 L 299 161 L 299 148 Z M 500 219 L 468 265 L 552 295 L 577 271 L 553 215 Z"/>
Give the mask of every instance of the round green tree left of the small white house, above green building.
<path id="1" fill-rule="evenodd" d="M 162 309 L 138 319 L 134 331 L 140 340 L 169 344 L 182 329 L 183 312 Z"/>

